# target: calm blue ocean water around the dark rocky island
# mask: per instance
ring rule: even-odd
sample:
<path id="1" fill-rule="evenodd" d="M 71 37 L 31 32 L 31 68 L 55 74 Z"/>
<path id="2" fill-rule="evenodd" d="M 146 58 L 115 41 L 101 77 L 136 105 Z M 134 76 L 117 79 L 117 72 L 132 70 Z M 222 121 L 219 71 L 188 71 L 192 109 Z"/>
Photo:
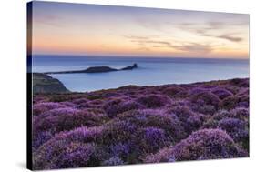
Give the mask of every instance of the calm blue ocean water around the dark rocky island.
<path id="1" fill-rule="evenodd" d="M 97 74 L 56 74 L 71 91 L 94 91 L 119 86 L 157 86 L 249 77 L 249 60 L 154 58 L 110 56 L 33 56 L 33 72 L 87 69 L 89 66 L 121 68 L 137 63 L 138 69 Z"/>

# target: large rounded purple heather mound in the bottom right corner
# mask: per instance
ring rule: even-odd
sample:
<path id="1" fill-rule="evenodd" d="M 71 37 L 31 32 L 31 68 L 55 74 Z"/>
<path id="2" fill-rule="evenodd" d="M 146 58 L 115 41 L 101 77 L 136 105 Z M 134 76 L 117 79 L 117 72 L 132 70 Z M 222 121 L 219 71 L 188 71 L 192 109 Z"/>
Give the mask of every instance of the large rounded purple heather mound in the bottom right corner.
<path id="1" fill-rule="evenodd" d="M 203 129 L 194 132 L 174 147 L 169 147 L 166 152 L 168 154 L 160 151 L 154 156 L 151 155 L 146 158 L 146 162 L 169 162 L 169 159 L 182 161 L 247 156 L 246 152 L 236 146 L 233 139 L 220 129 Z"/>

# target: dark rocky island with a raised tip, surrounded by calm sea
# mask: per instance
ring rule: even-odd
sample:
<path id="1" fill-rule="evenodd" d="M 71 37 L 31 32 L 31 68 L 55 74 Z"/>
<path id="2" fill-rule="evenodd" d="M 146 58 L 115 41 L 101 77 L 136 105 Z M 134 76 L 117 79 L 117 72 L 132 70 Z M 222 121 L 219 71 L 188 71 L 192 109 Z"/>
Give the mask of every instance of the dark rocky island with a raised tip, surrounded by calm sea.
<path id="1" fill-rule="evenodd" d="M 136 63 L 133 64 L 132 66 L 126 66 L 120 69 L 112 68 L 109 66 L 92 66 L 92 67 L 88 67 L 85 70 L 46 72 L 45 74 L 104 73 L 104 72 L 113 72 L 113 71 L 122 71 L 122 70 L 133 70 L 135 68 L 138 68 L 138 65 Z"/>

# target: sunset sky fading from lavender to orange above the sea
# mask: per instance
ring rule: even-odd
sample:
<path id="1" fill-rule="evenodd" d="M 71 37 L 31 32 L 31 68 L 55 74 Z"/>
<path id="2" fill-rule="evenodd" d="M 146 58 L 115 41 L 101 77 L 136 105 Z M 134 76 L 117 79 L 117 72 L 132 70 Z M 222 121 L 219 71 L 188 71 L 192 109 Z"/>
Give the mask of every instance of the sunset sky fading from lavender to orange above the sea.
<path id="1" fill-rule="evenodd" d="M 249 58 L 249 15 L 34 1 L 32 53 Z"/>

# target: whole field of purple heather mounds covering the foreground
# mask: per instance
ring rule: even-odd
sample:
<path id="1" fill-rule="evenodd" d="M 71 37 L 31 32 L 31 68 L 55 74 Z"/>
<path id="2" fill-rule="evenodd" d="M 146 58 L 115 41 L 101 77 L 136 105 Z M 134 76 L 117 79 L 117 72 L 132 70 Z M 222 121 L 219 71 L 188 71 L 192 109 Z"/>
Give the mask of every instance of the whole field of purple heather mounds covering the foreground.
<path id="1" fill-rule="evenodd" d="M 249 79 L 33 98 L 33 167 L 249 157 Z"/>

